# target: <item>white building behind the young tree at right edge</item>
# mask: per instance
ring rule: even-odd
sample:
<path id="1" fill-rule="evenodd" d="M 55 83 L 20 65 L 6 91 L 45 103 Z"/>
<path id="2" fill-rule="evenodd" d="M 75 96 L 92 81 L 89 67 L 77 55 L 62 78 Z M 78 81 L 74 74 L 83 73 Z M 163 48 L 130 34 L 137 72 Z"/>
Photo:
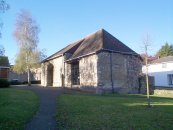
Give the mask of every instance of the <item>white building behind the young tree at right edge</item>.
<path id="1" fill-rule="evenodd" d="M 142 67 L 145 73 L 146 67 Z M 155 86 L 173 87 L 173 56 L 163 57 L 148 65 L 148 74 L 154 76 Z"/>

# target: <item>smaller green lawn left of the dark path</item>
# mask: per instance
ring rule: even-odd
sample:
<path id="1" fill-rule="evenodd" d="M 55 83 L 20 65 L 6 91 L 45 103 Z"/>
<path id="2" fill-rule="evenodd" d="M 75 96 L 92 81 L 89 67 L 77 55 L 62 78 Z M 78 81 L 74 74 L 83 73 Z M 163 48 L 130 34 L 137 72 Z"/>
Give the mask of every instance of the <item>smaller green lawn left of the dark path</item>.
<path id="1" fill-rule="evenodd" d="M 38 97 L 31 91 L 0 88 L 0 130 L 23 130 L 38 109 Z"/>

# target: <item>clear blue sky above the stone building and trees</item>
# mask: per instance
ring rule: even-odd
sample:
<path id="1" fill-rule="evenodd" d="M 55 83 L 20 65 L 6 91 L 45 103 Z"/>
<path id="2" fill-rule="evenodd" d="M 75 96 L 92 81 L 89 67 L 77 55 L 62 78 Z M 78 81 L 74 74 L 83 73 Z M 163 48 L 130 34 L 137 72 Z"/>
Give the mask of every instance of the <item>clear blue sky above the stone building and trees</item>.
<path id="1" fill-rule="evenodd" d="M 40 26 L 38 46 L 47 56 L 88 34 L 104 28 L 137 53 L 142 39 L 151 37 L 150 54 L 166 41 L 173 43 L 173 0 L 7 0 L 11 8 L 4 22 L 0 44 L 13 64 L 17 44 L 13 37 L 16 16 L 28 10 Z"/>

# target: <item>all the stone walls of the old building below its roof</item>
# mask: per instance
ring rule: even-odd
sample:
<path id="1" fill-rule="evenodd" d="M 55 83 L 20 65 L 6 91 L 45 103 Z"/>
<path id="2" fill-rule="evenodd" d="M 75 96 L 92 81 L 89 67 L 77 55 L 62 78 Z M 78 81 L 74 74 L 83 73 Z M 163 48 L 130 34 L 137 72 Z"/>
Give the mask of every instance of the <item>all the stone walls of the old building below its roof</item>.
<path id="1" fill-rule="evenodd" d="M 72 87 L 71 63 L 64 63 L 66 56 L 42 65 L 42 85 L 50 84 L 49 65 L 53 66 L 53 86 Z M 65 68 L 64 68 L 65 67 Z M 100 52 L 79 60 L 80 88 L 96 92 L 138 93 L 140 59 L 132 55 Z M 113 86 L 113 87 L 112 87 Z M 112 89 L 113 88 L 113 89 Z"/>

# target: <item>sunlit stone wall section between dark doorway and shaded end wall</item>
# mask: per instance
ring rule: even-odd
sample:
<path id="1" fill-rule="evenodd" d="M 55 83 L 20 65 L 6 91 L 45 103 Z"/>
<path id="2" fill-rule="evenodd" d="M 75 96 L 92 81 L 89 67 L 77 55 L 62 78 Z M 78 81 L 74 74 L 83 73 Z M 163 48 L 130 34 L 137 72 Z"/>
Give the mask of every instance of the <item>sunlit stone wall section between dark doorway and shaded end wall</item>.
<path id="1" fill-rule="evenodd" d="M 80 86 L 97 86 L 97 55 L 83 57 L 79 61 Z"/>

